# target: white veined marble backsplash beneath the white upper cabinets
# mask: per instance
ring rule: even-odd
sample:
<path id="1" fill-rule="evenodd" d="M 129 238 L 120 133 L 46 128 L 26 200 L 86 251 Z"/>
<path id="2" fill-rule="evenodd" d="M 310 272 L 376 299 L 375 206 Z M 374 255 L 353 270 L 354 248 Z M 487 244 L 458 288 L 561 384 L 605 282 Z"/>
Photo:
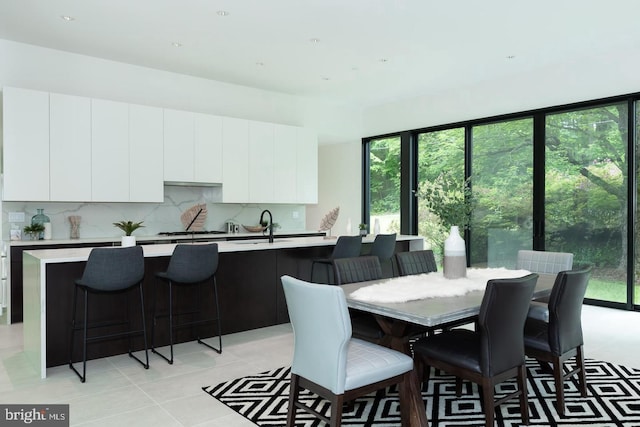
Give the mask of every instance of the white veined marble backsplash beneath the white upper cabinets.
<path id="1" fill-rule="evenodd" d="M 2 240 L 9 240 L 11 228 L 22 230 L 31 223 L 36 209 L 44 209 L 51 220 L 52 239 L 64 240 L 70 234 L 70 215 L 80 215 L 80 237 L 101 238 L 121 236 L 122 232 L 113 226 L 114 222 L 144 221 L 144 228 L 134 232 L 136 236 L 153 236 L 162 231 L 182 231 L 180 215 L 191 206 L 207 205 L 205 229 L 226 231 L 226 222 L 256 225 L 260 213 L 269 209 L 278 231 L 306 231 L 305 205 L 280 204 L 223 204 L 220 187 L 165 187 L 164 203 L 52 203 L 52 202 L 3 202 Z M 9 212 L 24 212 L 24 222 L 9 222 Z M 313 225 L 311 229 L 317 227 Z M 241 230 L 244 231 L 244 230 Z M 28 236 L 22 236 L 27 240 Z"/>

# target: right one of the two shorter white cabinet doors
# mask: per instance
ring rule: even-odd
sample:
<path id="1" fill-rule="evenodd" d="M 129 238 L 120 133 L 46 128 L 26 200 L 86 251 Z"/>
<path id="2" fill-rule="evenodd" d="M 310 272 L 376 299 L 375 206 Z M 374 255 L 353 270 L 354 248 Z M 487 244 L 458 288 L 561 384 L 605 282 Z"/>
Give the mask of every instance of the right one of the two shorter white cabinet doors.
<path id="1" fill-rule="evenodd" d="M 222 117 L 194 114 L 193 181 L 222 182 Z"/>

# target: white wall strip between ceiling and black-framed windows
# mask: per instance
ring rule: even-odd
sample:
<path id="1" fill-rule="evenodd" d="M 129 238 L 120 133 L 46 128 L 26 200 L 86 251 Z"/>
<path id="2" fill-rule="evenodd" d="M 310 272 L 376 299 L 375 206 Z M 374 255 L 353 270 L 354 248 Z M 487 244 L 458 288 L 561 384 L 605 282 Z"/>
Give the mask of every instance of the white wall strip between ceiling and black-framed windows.
<path id="1" fill-rule="evenodd" d="M 638 69 L 640 48 L 379 105 L 364 110 L 363 136 L 638 92 Z"/>

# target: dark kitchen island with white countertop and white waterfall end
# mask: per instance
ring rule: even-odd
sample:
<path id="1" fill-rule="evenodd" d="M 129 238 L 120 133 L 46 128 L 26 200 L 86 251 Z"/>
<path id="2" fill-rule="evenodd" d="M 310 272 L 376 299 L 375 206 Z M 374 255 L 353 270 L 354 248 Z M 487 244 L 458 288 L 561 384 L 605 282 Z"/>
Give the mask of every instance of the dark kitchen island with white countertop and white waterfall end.
<path id="1" fill-rule="evenodd" d="M 373 236 L 363 238 L 364 248 Z M 335 239 L 299 237 L 236 242 L 216 242 L 220 263 L 216 274 L 223 334 L 272 326 L 289 321 L 280 277 L 291 275 L 309 280 L 311 259 L 328 256 Z M 197 244 L 197 243 L 196 243 Z M 165 270 L 175 244 L 143 246 L 145 279 L 143 289 L 147 330 L 151 330 L 151 301 L 157 288 L 155 273 Z M 418 236 L 398 236 L 396 251 L 423 247 Z M 23 253 L 24 284 L 24 350 L 42 378 L 46 368 L 68 362 L 71 305 L 74 280 L 82 275 L 91 248 L 44 249 Z M 209 301 L 208 296 L 203 300 Z M 188 305 L 191 301 L 183 301 Z M 161 307 L 160 307 L 161 308 Z M 92 313 L 107 317 L 125 305 L 114 299 L 113 304 L 91 307 Z M 133 310 L 133 308 L 132 308 Z M 138 316 L 131 314 L 135 323 Z M 140 325 L 138 325 L 140 326 Z M 136 325 L 134 324 L 135 328 Z M 162 328 L 166 329 L 166 328 Z M 207 336 L 213 335 L 212 333 Z M 194 339 L 190 329 L 178 330 L 176 342 Z M 168 344 L 168 336 L 158 334 L 159 346 Z M 113 340 L 89 347 L 89 359 L 127 352 L 126 340 Z M 142 337 L 134 342 L 143 348 Z M 74 355 L 79 359 L 80 355 Z"/>

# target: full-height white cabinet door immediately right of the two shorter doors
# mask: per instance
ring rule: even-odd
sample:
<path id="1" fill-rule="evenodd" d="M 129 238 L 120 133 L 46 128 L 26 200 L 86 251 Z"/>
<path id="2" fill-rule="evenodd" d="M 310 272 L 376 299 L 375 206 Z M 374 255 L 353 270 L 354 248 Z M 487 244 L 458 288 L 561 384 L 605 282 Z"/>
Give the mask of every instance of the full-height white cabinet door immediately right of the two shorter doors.
<path id="1" fill-rule="evenodd" d="M 249 121 L 222 119 L 222 201 L 249 201 Z"/>

